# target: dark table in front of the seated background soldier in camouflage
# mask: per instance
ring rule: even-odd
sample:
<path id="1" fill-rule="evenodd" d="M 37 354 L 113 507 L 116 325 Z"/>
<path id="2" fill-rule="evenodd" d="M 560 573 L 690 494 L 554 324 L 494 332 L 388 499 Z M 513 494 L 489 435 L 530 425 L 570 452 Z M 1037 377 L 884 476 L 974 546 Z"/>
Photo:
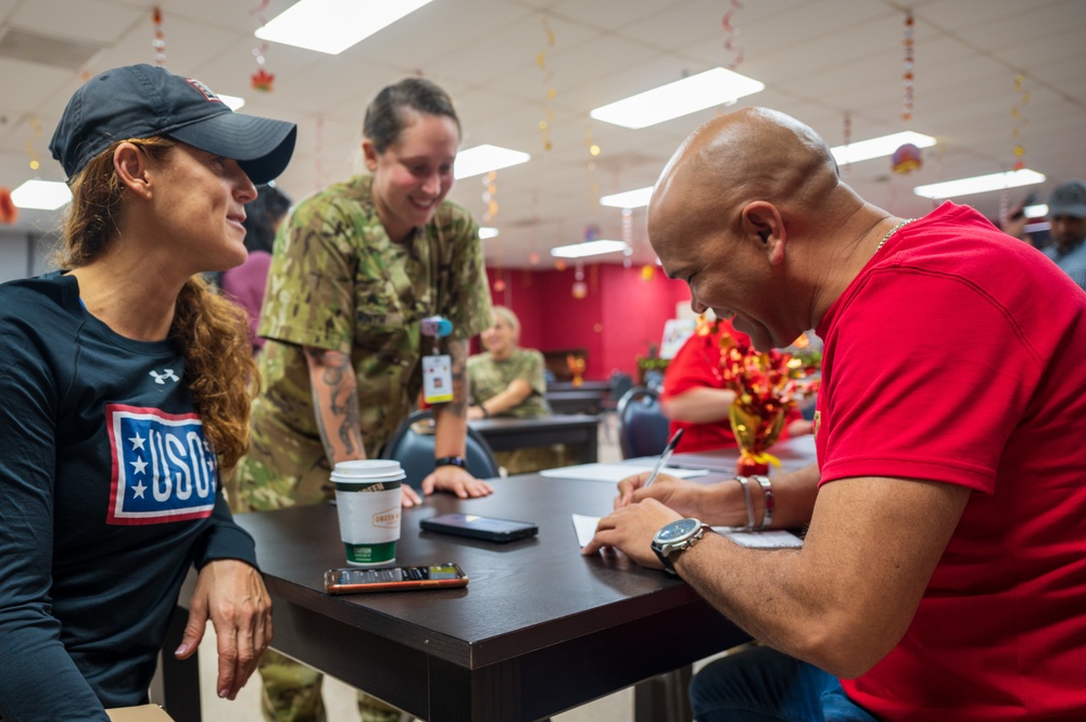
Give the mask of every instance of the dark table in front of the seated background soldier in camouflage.
<path id="1" fill-rule="evenodd" d="M 538 419 L 491 417 L 469 421 L 495 452 L 568 444 L 577 447 L 579 464 L 599 459 L 599 419 L 590 414 L 553 415 Z"/>

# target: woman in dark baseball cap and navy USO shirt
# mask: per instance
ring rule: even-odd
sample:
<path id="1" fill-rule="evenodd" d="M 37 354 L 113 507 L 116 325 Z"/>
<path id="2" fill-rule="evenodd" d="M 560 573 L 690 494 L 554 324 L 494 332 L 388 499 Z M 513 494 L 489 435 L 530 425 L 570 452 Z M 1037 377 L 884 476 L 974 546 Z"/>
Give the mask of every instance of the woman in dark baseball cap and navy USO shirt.
<path id="1" fill-rule="evenodd" d="M 243 312 L 204 271 L 245 259 L 244 204 L 295 126 L 132 65 L 72 98 L 50 149 L 72 206 L 60 271 L 0 286 L 0 715 L 96 720 L 147 700 L 181 582 L 233 698 L 272 637 L 220 480 L 248 444 Z"/>

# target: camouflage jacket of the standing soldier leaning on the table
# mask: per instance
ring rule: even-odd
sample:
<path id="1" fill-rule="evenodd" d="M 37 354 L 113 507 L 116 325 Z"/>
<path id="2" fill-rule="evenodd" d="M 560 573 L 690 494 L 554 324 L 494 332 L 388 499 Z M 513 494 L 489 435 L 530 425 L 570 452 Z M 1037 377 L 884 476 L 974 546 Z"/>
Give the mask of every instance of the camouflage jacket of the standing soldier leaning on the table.
<path id="1" fill-rule="evenodd" d="M 351 355 L 366 454 L 376 456 L 418 398 L 420 358 L 433 349 L 419 320 L 445 316 L 451 338 L 459 340 L 491 321 L 471 215 L 445 201 L 407 242 L 393 243 L 371 181 L 357 176 L 330 186 L 302 201 L 279 229 L 257 330 L 267 342 L 257 360 L 263 388 L 253 403 L 254 446 L 296 434 L 312 441 L 312 454 L 324 455 L 303 345 Z M 299 459 L 299 468 L 313 460 Z"/>

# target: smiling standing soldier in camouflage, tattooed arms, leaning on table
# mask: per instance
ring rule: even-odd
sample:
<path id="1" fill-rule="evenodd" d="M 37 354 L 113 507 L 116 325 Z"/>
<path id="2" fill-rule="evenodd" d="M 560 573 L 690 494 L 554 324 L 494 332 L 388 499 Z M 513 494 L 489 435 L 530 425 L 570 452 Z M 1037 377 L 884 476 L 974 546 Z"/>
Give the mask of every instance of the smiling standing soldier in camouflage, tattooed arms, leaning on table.
<path id="1" fill-rule="evenodd" d="M 452 356 L 453 401 L 434 409 L 435 455 L 463 458 L 467 343 L 491 308 L 478 226 L 444 201 L 458 144 L 444 91 L 421 78 L 389 86 L 366 112 L 371 175 L 312 195 L 280 229 L 258 329 L 263 389 L 232 490 L 241 509 L 325 502 L 334 463 L 378 456 L 418 400 L 421 356 L 434 346 L 420 332 L 428 316 L 453 324 L 440 352 Z M 451 465 L 424 481 L 425 494 L 434 490 L 492 491 Z M 417 503 L 405 486 L 404 505 Z M 265 654 L 261 674 L 265 719 L 326 719 L 318 672 Z M 359 710 L 364 722 L 401 719 L 367 695 Z"/>

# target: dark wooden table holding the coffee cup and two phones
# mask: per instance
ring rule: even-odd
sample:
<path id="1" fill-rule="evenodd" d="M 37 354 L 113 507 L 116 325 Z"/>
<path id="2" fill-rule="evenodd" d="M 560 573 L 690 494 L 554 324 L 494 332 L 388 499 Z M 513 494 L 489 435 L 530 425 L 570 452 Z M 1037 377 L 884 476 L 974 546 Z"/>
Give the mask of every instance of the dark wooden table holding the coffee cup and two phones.
<path id="1" fill-rule="evenodd" d="M 324 571 L 345 566 L 333 507 L 239 516 L 274 599 L 274 646 L 429 722 L 527 722 L 748 638 L 675 578 L 580 556 L 570 515 L 606 514 L 610 484 L 492 483 L 487 498 L 437 494 L 404 510 L 396 563 L 456 561 L 470 577 L 464 590 L 329 596 Z M 419 530 L 449 511 L 526 519 L 540 533 L 502 545 Z M 195 698 L 199 710 L 192 677 L 167 669 L 164 682 L 167 711 L 199 719 L 169 701 Z"/>

